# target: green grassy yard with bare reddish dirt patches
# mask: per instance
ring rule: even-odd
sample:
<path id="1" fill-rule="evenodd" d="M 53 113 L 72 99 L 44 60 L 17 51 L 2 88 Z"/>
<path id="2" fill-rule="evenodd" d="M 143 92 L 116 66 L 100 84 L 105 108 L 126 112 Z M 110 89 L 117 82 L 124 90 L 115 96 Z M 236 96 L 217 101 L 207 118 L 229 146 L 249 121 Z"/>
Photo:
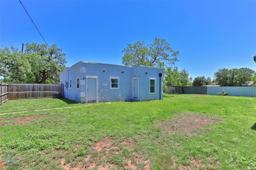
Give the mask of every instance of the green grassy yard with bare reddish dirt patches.
<path id="1" fill-rule="evenodd" d="M 256 169 L 255 139 L 250 97 L 164 94 L 94 104 L 44 98 L 0 106 L 0 169 Z"/>

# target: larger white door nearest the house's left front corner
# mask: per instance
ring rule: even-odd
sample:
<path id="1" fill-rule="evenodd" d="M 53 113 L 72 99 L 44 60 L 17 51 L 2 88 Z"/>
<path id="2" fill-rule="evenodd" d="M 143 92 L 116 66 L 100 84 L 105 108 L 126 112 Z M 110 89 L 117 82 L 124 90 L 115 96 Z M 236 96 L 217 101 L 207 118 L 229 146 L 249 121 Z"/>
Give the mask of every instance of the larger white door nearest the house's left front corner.
<path id="1" fill-rule="evenodd" d="M 87 102 L 97 102 L 96 78 L 87 78 Z"/>

